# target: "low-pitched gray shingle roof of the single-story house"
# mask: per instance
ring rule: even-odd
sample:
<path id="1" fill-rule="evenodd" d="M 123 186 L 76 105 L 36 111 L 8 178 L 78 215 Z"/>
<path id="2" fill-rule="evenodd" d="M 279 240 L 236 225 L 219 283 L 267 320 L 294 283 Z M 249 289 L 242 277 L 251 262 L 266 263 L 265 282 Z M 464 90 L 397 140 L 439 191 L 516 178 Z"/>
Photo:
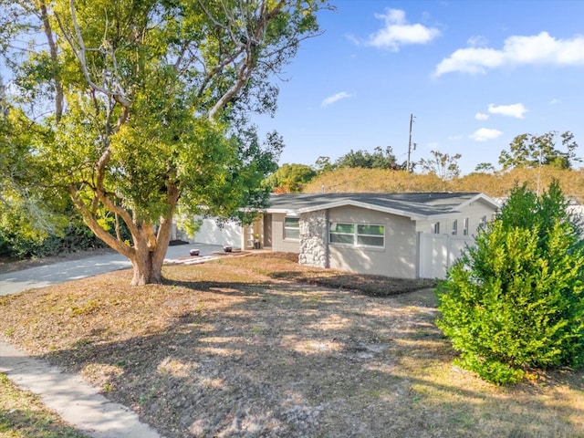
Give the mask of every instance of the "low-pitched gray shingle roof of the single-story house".
<path id="1" fill-rule="evenodd" d="M 495 201 L 482 193 L 287 193 L 272 195 L 267 212 L 301 214 L 356 205 L 392 214 L 428 217 L 455 213 L 462 205 L 476 199 L 496 206 Z"/>

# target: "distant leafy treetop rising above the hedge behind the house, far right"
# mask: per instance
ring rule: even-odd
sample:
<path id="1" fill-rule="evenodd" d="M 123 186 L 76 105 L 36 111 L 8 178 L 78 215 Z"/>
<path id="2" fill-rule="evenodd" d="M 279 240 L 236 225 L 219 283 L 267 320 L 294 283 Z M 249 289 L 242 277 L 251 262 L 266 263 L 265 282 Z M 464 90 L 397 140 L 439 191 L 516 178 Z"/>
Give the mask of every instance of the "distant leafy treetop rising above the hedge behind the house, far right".
<path id="1" fill-rule="evenodd" d="M 559 138 L 558 138 L 559 137 Z M 557 144 L 561 142 L 561 151 Z M 552 166 L 558 169 L 571 169 L 575 162 L 578 144 L 574 141 L 574 134 L 565 131 L 558 134 L 557 131 L 549 131 L 542 135 L 521 134 L 517 135 L 509 144 L 509 151 L 501 151 L 499 164 L 503 169 L 513 167 L 540 167 Z"/>

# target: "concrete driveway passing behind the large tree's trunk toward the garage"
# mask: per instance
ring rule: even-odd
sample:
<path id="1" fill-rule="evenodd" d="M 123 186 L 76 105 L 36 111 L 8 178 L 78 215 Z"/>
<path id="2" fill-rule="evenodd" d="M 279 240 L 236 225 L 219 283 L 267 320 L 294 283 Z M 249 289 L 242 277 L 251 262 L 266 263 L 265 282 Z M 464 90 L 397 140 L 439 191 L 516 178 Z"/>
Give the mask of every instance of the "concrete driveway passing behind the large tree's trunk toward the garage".
<path id="1" fill-rule="evenodd" d="M 193 257 L 193 262 L 208 260 L 213 257 L 213 253 L 223 250 L 220 245 L 189 244 L 169 246 L 166 252 L 166 261 L 190 261 L 188 260 L 190 257 L 189 250 L 193 248 L 200 250 L 200 256 L 196 259 Z M 104 272 L 129 267 L 131 267 L 130 260 L 118 253 L 31 267 L 22 271 L 0 275 L 0 296 L 16 294 L 36 287 L 57 285 L 58 283 L 78 280 L 86 276 L 97 276 Z"/>

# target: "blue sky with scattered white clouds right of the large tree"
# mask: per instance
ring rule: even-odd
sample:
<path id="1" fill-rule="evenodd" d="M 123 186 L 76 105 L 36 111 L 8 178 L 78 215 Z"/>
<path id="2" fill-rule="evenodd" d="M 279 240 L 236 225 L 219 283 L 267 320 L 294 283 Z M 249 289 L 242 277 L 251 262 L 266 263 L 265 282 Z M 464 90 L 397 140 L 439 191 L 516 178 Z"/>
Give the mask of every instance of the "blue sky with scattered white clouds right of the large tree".
<path id="1" fill-rule="evenodd" d="M 584 1 L 332 0 L 279 82 L 280 164 L 391 146 L 461 153 L 463 174 L 522 133 L 575 134 L 584 157 Z"/>

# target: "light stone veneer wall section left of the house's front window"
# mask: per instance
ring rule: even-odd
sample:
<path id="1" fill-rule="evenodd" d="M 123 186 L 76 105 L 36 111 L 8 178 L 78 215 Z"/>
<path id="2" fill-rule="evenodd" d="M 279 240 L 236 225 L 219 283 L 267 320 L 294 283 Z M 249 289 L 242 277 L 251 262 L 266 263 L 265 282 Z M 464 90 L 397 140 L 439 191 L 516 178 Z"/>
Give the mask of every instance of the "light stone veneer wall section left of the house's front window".
<path id="1" fill-rule="evenodd" d="M 328 267 L 327 222 L 326 210 L 300 214 L 300 265 Z"/>

